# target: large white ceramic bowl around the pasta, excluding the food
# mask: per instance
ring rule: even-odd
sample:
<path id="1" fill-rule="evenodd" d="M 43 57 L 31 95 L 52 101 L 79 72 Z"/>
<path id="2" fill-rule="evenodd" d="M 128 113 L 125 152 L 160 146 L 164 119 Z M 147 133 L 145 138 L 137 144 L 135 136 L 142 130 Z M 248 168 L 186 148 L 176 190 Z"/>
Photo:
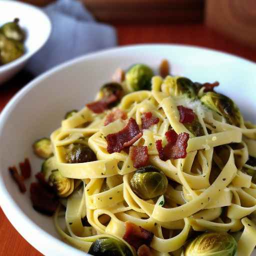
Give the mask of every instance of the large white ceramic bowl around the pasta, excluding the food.
<path id="1" fill-rule="evenodd" d="M 29 192 L 18 191 L 8 166 L 29 157 L 36 173 L 41 164 L 31 150 L 36 138 L 57 128 L 67 110 L 92 100 L 116 67 L 143 62 L 157 68 L 163 58 L 171 63 L 173 74 L 199 82 L 218 80 L 218 90 L 232 97 L 246 118 L 256 121 L 256 65 L 205 48 L 166 44 L 119 47 L 76 58 L 42 74 L 21 89 L 0 114 L 0 205 L 17 231 L 43 254 L 85 255 L 58 239 L 52 219 L 33 210 Z M 28 190 L 30 182 L 26 182 Z"/>

